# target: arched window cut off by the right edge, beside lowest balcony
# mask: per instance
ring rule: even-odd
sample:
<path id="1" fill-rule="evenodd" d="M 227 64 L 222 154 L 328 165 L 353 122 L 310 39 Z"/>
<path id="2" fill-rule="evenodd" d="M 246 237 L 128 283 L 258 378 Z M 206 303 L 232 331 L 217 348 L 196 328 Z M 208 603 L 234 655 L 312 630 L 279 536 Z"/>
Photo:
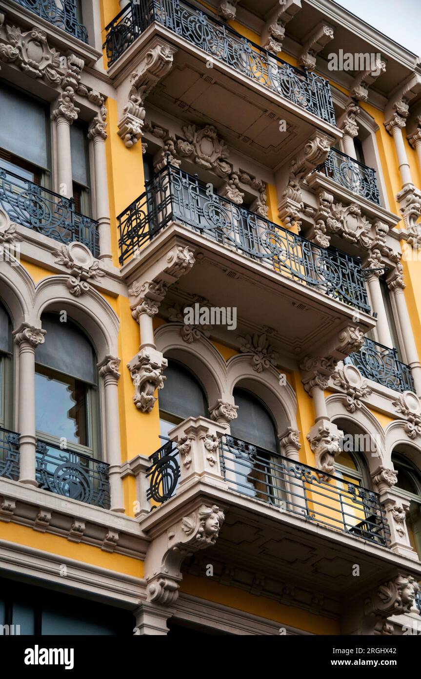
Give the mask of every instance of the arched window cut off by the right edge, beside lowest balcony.
<path id="1" fill-rule="evenodd" d="M 421 559 L 421 474 L 404 454 L 396 451 L 392 462 L 397 471 L 395 488 L 409 502 L 406 525 L 409 542 Z"/>

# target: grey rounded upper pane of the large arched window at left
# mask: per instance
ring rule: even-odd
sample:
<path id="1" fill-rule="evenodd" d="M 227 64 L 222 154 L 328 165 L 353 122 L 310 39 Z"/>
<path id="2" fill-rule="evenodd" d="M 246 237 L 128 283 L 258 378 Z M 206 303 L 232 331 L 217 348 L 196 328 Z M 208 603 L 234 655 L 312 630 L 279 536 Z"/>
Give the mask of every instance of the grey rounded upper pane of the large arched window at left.
<path id="1" fill-rule="evenodd" d="M 56 314 L 45 314 L 41 320 L 47 335 L 44 344 L 37 347 L 37 363 L 95 383 L 94 352 L 89 339 L 71 321 L 60 323 Z"/>

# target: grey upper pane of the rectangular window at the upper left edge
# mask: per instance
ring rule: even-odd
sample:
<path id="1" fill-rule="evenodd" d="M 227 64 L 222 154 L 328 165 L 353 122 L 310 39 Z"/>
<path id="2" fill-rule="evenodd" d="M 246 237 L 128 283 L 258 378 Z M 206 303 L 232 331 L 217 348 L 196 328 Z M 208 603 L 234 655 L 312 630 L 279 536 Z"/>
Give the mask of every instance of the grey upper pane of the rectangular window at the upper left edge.
<path id="1" fill-rule="evenodd" d="M 45 107 L 18 90 L 0 86 L 0 147 L 48 167 Z"/>

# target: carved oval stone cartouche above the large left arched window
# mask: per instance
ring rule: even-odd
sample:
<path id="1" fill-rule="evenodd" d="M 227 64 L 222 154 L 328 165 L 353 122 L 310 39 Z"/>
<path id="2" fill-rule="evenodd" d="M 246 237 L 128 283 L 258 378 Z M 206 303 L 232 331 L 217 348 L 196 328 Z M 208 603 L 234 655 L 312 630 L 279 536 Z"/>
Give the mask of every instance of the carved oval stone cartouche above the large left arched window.
<path id="1" fill-rule="evenodd" d="M 92 252 L 83 243 L 73 242 L 62 245 L 60 250 L 53 253 L 56 256 L 56 264 L 61 264 L 70 270 L 70 276 L 66 286 L 71 295 L 79 297 L 89 291 L 89 282 L 97 281 L 105 276 L 100 269 L 100 260 L 95 259 Z"/>

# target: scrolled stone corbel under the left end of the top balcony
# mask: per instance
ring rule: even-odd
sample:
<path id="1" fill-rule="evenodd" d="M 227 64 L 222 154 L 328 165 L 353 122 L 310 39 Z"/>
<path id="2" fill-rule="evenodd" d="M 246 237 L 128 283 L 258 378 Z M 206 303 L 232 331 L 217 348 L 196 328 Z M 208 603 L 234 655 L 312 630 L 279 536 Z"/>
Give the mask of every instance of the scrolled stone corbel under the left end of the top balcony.
<path id="1" fill-rule="evenodd" d="M 131 148 L 141 139 L 146 115 L 144 99 L 172 69 L 176 52 L 173 45 L 156 38 L 144 50 L 138 70 L 130 75 L 127 104 L 118 122 L 118 134 L 127 148 Z"/>

